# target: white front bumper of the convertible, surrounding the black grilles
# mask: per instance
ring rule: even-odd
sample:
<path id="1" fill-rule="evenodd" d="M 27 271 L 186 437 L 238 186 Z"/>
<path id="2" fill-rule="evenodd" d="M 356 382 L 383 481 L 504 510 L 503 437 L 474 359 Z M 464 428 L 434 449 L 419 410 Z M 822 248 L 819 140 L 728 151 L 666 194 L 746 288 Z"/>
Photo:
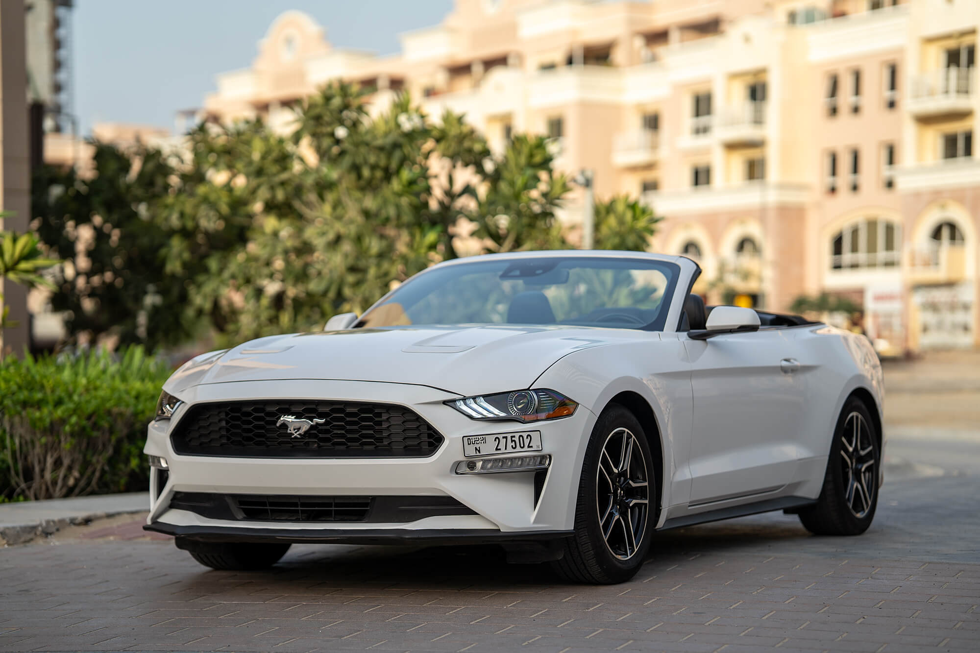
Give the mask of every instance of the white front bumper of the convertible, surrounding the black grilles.
<path id="1" fill-rule="evenodd" d="M 166 481 L 151 475 L 147 528 L 200 539 L 382 543 L 557 537 L 574 523 L 579 470 L 596 417 L 583 406 L 561 420 L 523 425 L 470 420 L 443 402 L 457 395 L 427 386 L 339 380 L 241 381 L 196 385 L 179 393 L 172 420 L 152 423 L 145 453 L 167 460 Z M 416 411 L 445 441 L 427 458 L 237 458 L 177 455 L 170 429 L 194 404 L 247 399 L 311 399 L 399 404 Z M 540 430 L 551 465 L 543 486 L 535 472 L 456 474 L 466 460 L 463 436 Z M 519 454 L 512 454 L 519 455 Z M 174 492 L 317 495 L 448 496 L 473 514 L 392 523 L 290 523 L 204 517 L 171 507 Z M 537 500 L 535 500 L 537 499 Z"/>

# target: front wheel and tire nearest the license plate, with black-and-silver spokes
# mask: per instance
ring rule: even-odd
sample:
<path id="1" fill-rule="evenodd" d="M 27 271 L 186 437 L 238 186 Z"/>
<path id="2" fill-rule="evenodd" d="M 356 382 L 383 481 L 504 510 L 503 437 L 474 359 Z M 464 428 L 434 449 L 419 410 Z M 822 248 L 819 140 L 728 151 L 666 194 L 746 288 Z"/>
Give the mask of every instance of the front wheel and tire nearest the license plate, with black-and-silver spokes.
<path id="1" fill-rule="evenodd" d="M 632 444 L 628 454 L 624 443 Z M 620 455 L 611 457 L 611 451 Z M 624 460 L 629 465 L 622 469 Z M 633 578 L 646 559 L 657 524 L 659 479 L 636 417 L 615 404 L 603 411 L 585 450 L 574 535 L 564 540 L 562 558 L 552 563 L 558 575 L 592 584 Z"/>

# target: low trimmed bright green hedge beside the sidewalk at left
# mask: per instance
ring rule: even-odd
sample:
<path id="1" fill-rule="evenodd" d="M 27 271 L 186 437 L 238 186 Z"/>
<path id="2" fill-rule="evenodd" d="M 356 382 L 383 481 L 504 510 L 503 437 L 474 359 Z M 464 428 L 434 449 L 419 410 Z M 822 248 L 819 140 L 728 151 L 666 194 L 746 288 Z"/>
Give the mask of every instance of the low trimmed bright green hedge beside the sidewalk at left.
<path id="1" fill-rule="evenodd" d="M 0 361 L 0 496 L 145 489 L 146 425 L 170 372 L 141 347 Z"/>

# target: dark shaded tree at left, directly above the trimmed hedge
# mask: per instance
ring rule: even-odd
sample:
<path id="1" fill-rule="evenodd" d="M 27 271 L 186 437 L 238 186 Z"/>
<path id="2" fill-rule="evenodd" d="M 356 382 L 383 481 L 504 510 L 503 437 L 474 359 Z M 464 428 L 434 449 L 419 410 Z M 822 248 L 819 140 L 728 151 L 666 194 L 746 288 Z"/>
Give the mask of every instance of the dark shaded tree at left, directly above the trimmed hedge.
<path id="1" fill-rule="evenodd" d="M 123 344 L 172 342 L 185 333 L 183 288 L 164 276 L 168 234 L 155 219 L 172 167 L 156 150 L 97 144 L 94 175 L 44 167 L 32 184 L 37 233 L 64 260 L 52 308 L 69 332 L 112 333 Z"/>

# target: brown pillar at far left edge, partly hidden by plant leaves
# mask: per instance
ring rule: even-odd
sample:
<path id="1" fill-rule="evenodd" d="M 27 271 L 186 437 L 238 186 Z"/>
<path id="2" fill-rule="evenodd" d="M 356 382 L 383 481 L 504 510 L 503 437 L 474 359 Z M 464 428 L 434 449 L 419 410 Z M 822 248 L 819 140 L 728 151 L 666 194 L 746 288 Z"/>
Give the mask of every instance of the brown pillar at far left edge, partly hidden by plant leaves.
<path id="1" fill-rule="evenodd" d="M 0 220 L 0 229 L 21 233 L 30 223 L 26 52 L 24 2 L 0 2 L 0 210 L 14 214 Z M 27 290 L 0 283 L 7 317 L 19 323 L 3 329 L 0 355 L 20 353 L 28 344 Z"/>

